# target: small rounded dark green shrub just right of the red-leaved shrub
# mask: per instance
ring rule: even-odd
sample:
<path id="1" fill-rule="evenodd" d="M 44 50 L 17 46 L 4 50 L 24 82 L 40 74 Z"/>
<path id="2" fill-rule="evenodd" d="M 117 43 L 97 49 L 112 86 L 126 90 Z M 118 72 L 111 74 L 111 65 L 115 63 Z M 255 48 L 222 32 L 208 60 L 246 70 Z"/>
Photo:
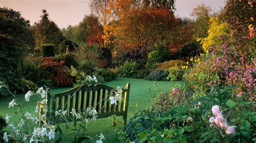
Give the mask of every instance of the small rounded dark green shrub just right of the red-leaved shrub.
<path id="1" fill-rule="evenodd" d="M 78 66 L 78 69 L 84 71 L 87 75 L 91 75 L 95 68 L 95 63 L 89 60 L 80 61 Z"/>

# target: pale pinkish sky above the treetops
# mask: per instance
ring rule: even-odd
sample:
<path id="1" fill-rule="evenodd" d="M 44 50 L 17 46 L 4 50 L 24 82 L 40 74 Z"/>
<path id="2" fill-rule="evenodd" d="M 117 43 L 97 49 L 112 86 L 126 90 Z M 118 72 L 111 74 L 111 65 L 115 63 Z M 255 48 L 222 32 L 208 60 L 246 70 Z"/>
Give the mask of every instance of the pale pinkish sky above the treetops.
<path id="1" fill-rule="evenodd" d="M 0 7 L 21 12 L 31 25 L 40 19 L 42 9 L 46 9 L 50 19 L 63 28 L 81 22 L 84 15 L 91 12 L 89 3 L 90 0 L 0 0 Z M 224 7 L 225 0 L 176 0 L 175 15 L 190 17 L 192 9 L 201 3 L 219 10 Z"/>

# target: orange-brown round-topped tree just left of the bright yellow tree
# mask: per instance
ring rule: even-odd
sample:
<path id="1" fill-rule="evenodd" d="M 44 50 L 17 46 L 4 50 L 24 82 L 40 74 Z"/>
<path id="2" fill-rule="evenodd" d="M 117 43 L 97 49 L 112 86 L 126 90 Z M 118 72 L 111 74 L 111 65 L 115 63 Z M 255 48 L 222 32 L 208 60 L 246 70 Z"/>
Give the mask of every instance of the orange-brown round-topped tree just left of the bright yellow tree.
<path id="1" fill-rule="evenodd" d="M 205 38 L 207 37 L 209 29 L 209 20 L 215 16 L 211 6 L 206 6 L 204 3 L 198 5 L 192 10 L 191 16 L 195 19 L 194 21 L 194 38 Z"/>

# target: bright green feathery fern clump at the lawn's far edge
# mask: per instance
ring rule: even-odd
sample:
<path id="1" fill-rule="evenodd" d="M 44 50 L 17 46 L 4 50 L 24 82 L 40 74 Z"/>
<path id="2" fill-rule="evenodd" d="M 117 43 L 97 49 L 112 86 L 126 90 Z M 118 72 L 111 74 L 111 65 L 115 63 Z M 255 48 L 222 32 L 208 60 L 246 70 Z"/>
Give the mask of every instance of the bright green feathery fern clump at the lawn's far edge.
<path id="1" fill-rule="evenodd" d="M 124 65 L 118 69 L 119 77 L 131 77 L 137 70 L 138 63 L 136 61 L 125 61 Z"/>

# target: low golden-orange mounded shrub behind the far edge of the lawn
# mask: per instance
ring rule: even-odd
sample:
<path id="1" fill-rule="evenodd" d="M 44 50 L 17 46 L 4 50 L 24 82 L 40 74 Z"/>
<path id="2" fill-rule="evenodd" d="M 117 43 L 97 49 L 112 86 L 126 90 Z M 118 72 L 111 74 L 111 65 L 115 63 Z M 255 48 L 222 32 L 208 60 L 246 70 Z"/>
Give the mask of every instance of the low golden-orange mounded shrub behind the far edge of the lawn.
<path id="1" fill-rule="evenodd" d="M 171 67 L 181 68 L 181 66 L 184 66 L 184 65 L 186 65 L 186 62 L 183 60 L 170 60 L 170 61 L 159 63 L 157 68 L 159 69 L 169 69 Z"/>

